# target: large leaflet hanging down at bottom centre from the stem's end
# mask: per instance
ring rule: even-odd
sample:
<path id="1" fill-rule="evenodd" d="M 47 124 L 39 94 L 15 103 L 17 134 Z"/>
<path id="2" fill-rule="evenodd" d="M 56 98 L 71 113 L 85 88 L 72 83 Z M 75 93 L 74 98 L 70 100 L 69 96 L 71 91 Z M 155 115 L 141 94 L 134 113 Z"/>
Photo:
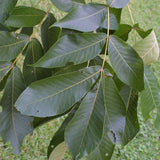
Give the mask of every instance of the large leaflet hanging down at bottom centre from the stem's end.
<path id="1" fill-rule="evenodd" d="M 65 140 L 73 159 L 80 159 L 96 148 L 102 137 L 104 113 L 99 82 L 95 91 L 88 92 L 66 128 Z"/>

